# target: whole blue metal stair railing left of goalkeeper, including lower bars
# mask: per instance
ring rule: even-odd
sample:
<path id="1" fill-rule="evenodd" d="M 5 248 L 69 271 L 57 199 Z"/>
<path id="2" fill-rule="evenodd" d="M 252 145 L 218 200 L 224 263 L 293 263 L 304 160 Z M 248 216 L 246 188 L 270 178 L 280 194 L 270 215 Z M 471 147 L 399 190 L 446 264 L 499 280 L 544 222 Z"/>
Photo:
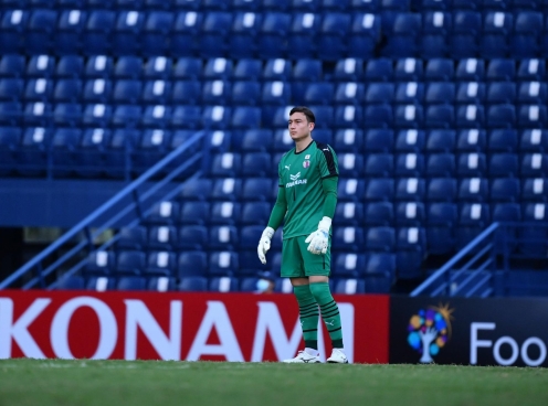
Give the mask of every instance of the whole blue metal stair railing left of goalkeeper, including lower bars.
<path id="1" fill-rule="evenodd" d="M 46 277 L 53 271 L 64 266 L 68 260 L 74 260 L 82 250 L 87 249 L 87 254 L 95 249 L 106 249 L 118 239 L 115 235 L 113 238 L 104 243 L 101 247 L 96 248 L 94 242 L 108 228 L 124 221 L 124 218 L 133 217 L 135 220 L 128 221 L 127 225 L 133 226 L 146 217 L 150 209 L 145 209 L 147 204 L 151 204 L 151 199 L 156 201 L 169 200 L 177 195 L 185 186 L 185 182 L 170 182 L 183 173 L 186 170 L 201 160 L 201 167 L 193 174 L 187 179 L 193 179 L 201 174 L 203 168 L 207 167 L 209 161 L 209 143 L 203 142 L 202 148 L 186 158 L 182 162 L 177 162 L 186 151 L 196 147 L 197 143 L 204 138 L 204 131 L 198 131 L 191 136 L 187 141 L 181 143 L 177 149 L 167 154 L 164 159 L 154 164 L 139 178 L 110 197 L 107 202 L 101 205 L 97 210 L 91 213 L 87 217 L 82 220 L 78 224 L 68 229 L 59 239 L 52 243 L 49 247 L 24 264 L 21 268 L 17 269 L 8 278 L 0 282 L 0 289 L 12 287 L 15 282 L 21 285 L 22 289 L 31 288 L 48 288 Z M 157 179 L 160 173 L 167 171 L 162 179 Z M 154 178 L 154 180 L 152 180 Z M 147 188 L 146 191 L 139 188 Z M 159 196 L 159 194 L 161 194 Z M 128 199 L 130 200 L 129 202 Z M 154 203 L 154 202 L 152 202 Z M 118 209 L 118 206 L 123 205 Z M 115 211 L 112 214 L 109 212 Z M 108 216 L 108 218 L 104 218 Z M 101 226 L 92 231 L 92 224 L 95 222 L 103 222 Z M 74 243 L 74 238 L 84 234 L 84 238 Z M 62 249 L 67 249 L 61 253 Z M 61 255 L 56 257 L 56 255 Z M 49 263 L 48 265 L 45 263 Z M 78 271 L 86 263 L 86 258 L 80 259 L 76 265 L 72 265 L 66 270 L 65 275 L 73 275 Z M 25 280 L 23 280 L 25 279 Z M 56 281 L 53 281 L 55 284 Z M 54 287 L 52 285 L 51 287 Z"/>

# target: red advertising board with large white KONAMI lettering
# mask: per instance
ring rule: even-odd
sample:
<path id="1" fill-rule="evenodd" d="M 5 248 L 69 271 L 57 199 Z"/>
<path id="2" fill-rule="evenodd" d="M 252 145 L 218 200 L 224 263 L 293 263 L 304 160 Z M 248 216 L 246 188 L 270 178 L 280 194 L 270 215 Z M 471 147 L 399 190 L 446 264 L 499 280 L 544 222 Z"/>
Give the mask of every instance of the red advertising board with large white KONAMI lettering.
<path id="1" fill-rule="evenodd" d="M 338 296 L 351 362 L 388 363 L 389 297 Z M 292 295 L 0 292 L 0 359 L 280 361 L 302 349 Z M 330 353 L 325 329 L 322 357 Z"/>

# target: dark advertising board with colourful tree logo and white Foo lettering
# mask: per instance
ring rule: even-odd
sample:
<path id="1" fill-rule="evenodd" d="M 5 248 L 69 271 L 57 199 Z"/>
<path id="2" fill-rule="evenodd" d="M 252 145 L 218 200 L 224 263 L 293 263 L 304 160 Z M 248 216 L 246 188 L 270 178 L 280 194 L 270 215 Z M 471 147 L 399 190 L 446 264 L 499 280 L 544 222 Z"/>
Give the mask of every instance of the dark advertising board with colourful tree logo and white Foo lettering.
<path id="1" fill-rule="evenodd" d="M 548 366 L 548 299 L 392 297 L 390 363 Z"/>

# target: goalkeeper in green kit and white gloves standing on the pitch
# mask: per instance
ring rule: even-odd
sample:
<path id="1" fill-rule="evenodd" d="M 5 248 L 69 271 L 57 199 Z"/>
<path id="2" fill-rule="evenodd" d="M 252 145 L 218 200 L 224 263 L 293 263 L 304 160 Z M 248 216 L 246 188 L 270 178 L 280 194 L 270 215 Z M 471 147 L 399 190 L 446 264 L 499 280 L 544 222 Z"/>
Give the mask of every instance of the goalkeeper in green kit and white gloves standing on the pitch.
<path id="1" fill-rule="evenodd" d="M 259 242 L 259 259 L 284 221 L 282 277 L 289 278 L 297 298 L 305 350 L 288 363 L 318 363 L 318 307 L 331 339 L 327 362 L 348 363 L 337 302 L 329 290 L 330 228 L 337 204 L 338 163 L 333 149 L 314 141 L 316 118 L 307 107 L 289 111 L 289 135 L 295 148 L 278 164 L 278 194 L 267 227 Z"/>

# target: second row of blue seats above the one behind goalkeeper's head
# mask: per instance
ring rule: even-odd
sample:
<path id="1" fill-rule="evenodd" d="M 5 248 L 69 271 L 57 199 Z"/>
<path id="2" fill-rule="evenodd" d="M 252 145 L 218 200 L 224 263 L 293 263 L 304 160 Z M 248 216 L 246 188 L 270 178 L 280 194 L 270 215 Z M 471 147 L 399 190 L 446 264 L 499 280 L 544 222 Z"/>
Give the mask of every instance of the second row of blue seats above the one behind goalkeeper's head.
<path id="1" fill-rule="evenodd" d="M 8 54 L 0 58 L 0 78 L 73 78 L 91 81 L 161 79 L 231 81 L 231 82 L 340 82 L 369 85 L 376 82 L 541 82 L 546 61 L 538 58 L 345 58 L 335 66 L 314 58 L 197 58 L 136 55 L 112 57 L 94 55 L 87 58 L 66 55 L 24 57 Z"/>

